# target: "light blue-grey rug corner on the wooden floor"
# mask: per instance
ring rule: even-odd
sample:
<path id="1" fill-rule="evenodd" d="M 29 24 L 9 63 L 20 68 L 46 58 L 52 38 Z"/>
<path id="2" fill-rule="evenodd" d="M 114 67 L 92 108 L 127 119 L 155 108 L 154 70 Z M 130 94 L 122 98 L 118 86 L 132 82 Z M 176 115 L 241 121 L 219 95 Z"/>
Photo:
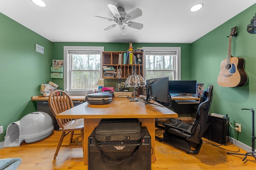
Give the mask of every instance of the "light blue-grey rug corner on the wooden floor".
<path id="1" fill-rule="evenodd" d="M 21 158 L 0 159 L 0 170 L 16 170 L 21 162 Z"/>

